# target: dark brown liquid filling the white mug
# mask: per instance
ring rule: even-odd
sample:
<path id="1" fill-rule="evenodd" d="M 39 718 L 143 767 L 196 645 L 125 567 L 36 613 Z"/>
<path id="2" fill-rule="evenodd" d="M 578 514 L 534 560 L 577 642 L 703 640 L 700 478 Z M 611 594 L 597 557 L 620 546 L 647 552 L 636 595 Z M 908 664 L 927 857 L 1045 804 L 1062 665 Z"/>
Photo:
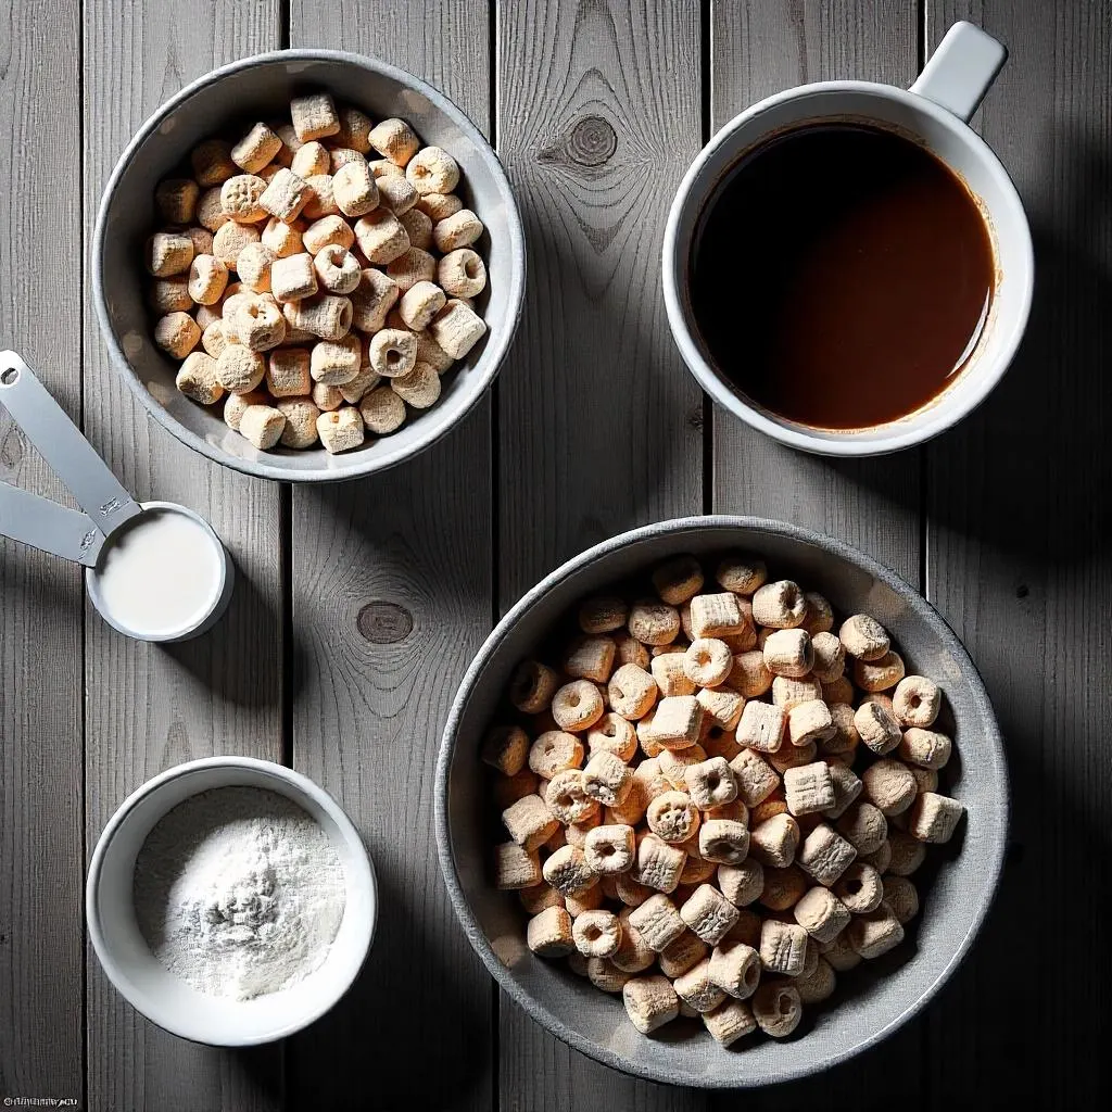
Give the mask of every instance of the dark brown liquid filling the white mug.
<path id="1" fill-rule="evenodd" d="M 695 234 L 691 298 L 738 390 L 818 428 L 914 413 L 962 369 L 989 316 L 989 230 L 917 143 L 805 125 L 745 156 Z"/>

